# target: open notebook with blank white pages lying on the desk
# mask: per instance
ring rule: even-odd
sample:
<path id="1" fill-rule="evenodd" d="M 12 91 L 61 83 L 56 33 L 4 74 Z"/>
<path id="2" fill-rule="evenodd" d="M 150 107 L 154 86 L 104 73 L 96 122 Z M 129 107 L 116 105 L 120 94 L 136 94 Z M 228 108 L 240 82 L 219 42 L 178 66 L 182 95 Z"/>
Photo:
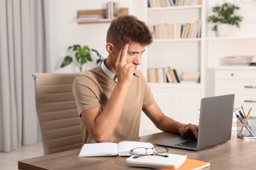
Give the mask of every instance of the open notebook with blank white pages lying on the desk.
<path id="1" fill-rule="evenodd" d="M 131 156 L 130 150 L 137 148 L 153 148 L 152 143 L 122 141 L 119 143 L 89 143 L 83 144 L 78 157 L 89 156 Z"/>

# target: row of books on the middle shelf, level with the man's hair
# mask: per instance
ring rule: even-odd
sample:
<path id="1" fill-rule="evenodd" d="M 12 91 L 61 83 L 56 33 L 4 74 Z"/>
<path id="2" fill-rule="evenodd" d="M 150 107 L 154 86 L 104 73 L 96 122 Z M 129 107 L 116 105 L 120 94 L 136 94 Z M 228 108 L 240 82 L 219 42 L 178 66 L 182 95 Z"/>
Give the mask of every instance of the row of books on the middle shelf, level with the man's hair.
<path id="1" fill-rule="evenodd" d="M 148 25 L 155 39 L 195 39 L 201 37 L 201 21 L 187 24 Z"/>

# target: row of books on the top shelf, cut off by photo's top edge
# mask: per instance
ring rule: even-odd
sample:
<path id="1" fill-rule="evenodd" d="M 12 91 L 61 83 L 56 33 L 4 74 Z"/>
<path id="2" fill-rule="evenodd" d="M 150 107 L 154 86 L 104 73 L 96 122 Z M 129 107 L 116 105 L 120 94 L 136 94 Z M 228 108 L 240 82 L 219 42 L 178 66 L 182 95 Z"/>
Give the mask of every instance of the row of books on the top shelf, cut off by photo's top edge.
<path id="1" fill-rule="evenodd" d="M 202 0 L 148 0 L 148 7 L 174 7 L 186 5 L 201 5 Z"/>

